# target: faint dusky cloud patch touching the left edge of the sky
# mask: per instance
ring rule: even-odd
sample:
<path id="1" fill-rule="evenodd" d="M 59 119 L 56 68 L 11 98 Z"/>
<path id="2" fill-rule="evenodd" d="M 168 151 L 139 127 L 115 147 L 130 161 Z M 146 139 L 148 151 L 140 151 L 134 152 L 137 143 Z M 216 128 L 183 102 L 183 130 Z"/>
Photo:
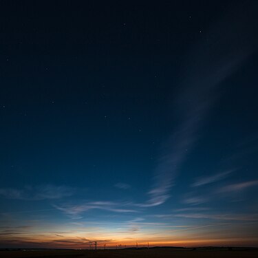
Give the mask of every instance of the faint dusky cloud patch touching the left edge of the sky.
<path id="1" fill-rule="evenodd" d="M 45 184 L 40 186 L 26 186 L 23 189 L 2 188 L 0 196 L 15 200 L 52 200 L 71 196 L 75 189 L 67 186 Z"/>

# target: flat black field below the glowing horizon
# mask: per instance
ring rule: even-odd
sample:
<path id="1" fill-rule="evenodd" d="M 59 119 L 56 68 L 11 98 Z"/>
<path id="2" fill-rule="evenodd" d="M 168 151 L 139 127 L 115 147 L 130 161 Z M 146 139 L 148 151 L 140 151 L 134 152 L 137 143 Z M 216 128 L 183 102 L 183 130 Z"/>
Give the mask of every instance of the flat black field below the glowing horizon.
<path id="1" fill-rule="evenodd" d="M 191 250 L 191 249 L 173 249 L 158 248 L 144 250 L 12 250 L 1 251 L 1 258 L 19 258 L 19 257 L 47 257 L 47 258 L 255 258 L 258 257 L 258 250 Z"/>

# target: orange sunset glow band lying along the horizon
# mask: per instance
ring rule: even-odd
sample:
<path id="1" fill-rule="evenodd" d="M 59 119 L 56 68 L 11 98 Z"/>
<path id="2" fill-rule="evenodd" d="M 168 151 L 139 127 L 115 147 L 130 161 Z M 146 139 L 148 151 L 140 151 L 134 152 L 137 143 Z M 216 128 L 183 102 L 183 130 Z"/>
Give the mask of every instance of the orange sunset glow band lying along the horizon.
<path id="1" fill-rule="evenodd" d="M 20 237 L 15 237 L 17 246 L 30 243 L 32 247 L 44 247 L 44 248 L 83 248 L 89 249 L 89 245 L 94 241 L 97 241 L 98 248 L 116 248 L 121 245 L 121 248 L 125 247 L 136 247 L 136 242 L 138 243 L 138 248 L 147 248 L 148 242 L 149 247 L 153 246 L 182 246 L 182 247 L 193 247 L 193 246 L 257 246 L 258 237 L 253 238 L 240 238 L 240 237 L 229 237 L 229 238 L 206 238 L 206 239 L 162 239 L 158 240 L 153 237 L 144 237 L 136 239 L 110 239 L 105 240 L 104 238 L 92 239 L 87 241 L 87 237 L 53 237 L 50 235 L 23 235 Z M 9 239 L 12 240 L 12 239 Z M 8 242 L 8 238 L 4 239 Z M 13 240 L 12 240 L 13 242 Z"/>

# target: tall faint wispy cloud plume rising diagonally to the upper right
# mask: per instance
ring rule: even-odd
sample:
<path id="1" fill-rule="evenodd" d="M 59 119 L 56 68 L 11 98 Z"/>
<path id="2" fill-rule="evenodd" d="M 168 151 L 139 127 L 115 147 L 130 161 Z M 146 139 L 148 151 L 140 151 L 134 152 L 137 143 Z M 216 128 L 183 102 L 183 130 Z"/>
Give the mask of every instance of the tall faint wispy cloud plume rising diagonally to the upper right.
<path id="1" fill-rule="evenodd" d="M 246 12 L 231 12 L 205 34 L 205 39 L 220 41 L 207 47 L 206 40 L 202 40 L 186 54 L 185 74 L 178 94 L 173 94 L 173 110 L 169 110 L 178 118 L 178 126 L 161 148 L 153 186 L 148 192 L 149 200 L 141 204 L 142 207 L 158 206 L 169 199 L 175 176 L 193 149 L 198 132 L 219 97 L 219 85 L 257 49 L 257 41 L 248 40 L 253 39 L 252 34 L 257 29 L 257 25 L 253 26 L 254 17 L 250 7 Z M 215 182 L 223 176 L 226 174 L 202 180 L 199 184 L 196 182 L 196 186 Z"/>

